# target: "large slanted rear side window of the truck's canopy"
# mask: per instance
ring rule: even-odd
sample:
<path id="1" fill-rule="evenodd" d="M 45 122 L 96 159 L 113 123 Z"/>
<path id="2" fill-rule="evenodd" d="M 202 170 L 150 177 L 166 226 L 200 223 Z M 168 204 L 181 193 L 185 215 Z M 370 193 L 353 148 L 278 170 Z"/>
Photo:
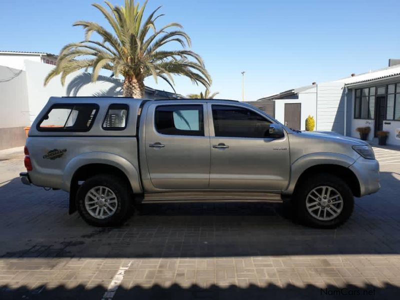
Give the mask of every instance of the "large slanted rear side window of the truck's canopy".
<path id="1" fill-rule="evenodd" d="M 88 131 L 98 111 L 97 104 L 55 104 L 37 125 L 39 131 Z"/>

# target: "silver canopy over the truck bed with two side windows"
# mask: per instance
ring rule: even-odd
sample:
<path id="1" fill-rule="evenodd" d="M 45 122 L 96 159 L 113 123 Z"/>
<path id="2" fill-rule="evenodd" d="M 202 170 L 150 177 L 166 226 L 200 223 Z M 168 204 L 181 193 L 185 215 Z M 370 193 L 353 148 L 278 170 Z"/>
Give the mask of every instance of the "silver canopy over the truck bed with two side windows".
<path id="1" fill-rule="evenodd" d="M 50 97 L 36 116 L 29 136 L 136 136 L 138 112 L 145 99 L 130 97 Z M 112 127 L 113 109 L 123 110 L 123 127 Z M 115 118 L 117 115 L 111 116 Z"/>

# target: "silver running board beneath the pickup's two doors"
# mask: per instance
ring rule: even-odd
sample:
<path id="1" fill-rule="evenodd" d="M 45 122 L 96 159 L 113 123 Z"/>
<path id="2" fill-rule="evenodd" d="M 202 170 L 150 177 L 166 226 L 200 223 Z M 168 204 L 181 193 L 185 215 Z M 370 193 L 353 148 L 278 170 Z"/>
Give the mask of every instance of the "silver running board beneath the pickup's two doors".
<path id="1" fill-rule="evenodd" d="M 254 191 L 168 191 L 144 194 L 143 203 L 169 202 L 273 202 L 281 203 L 279 193 Z"/>

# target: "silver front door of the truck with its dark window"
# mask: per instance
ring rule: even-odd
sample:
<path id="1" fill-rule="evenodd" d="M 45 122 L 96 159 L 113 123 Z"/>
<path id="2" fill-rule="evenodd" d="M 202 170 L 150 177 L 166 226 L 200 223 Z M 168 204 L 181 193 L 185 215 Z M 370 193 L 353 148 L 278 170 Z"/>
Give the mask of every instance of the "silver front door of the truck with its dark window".
<path id="1" fill-rule="evenodd" d="M 211 168 L 215 189 L 281 190 L 289 179 L 287 136 L 268 136 L 271 123 L 256 110 L 208 104 Z"/>

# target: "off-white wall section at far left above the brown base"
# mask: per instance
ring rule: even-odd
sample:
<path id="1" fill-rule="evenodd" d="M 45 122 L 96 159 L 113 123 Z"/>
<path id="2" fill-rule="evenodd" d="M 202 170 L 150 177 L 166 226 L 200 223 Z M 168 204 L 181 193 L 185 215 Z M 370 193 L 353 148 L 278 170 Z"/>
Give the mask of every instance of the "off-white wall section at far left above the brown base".
<path id="1" fill-rule="evenodd" d="M 0 65 L 0 128 L 29 124 L 25 72 Z"/>

